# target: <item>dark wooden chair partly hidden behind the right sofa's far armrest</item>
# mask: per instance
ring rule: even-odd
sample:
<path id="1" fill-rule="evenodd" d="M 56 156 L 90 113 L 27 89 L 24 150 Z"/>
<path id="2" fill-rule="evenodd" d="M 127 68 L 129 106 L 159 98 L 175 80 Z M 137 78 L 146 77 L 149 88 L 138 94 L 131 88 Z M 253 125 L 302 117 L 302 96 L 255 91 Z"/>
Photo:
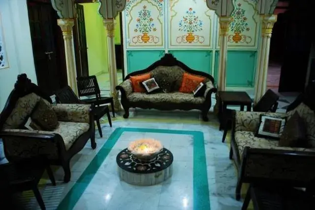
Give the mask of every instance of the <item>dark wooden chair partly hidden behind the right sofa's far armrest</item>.
<path id="1" fill-rule="evenodd" d="M 266 93 L 261 97 L 259 102 L 252 107 L 253 111 L 260 111 L 260 112 L 276 112 L 278 108 L 278 100 L 279 96 L 273 92 L 271 89 L 267 90 Z M 222 142 L 225 141 L 225 137 L 227 134 L 227 130 L 231 127 L 232 123 L 232 116 L 233 116 L 232 109 L 226 109 L 225 115 L 225 126 L 224 132 L 222 136 Z"/>

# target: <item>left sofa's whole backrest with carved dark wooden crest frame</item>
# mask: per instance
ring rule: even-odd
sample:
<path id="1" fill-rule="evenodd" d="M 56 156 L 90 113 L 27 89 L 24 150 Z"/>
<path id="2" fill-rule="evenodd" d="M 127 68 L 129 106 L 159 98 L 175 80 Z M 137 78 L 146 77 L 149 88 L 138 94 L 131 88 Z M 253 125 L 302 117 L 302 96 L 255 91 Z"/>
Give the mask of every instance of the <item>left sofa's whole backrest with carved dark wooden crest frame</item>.
<path id="1" fill-rule="evenodd" d="M 51 98 L 32 83 L 26 74 L 19 75 L 0 114 L 0 131 L 21 126 L 40 98 L 52 103 Z"/>

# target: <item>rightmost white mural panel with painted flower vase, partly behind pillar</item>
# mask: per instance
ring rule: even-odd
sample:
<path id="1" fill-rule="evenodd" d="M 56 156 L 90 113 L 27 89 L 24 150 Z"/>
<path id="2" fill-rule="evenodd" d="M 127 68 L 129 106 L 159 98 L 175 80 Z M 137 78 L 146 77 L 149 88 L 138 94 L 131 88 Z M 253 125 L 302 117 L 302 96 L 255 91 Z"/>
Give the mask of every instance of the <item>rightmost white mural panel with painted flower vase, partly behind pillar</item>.
<path id="1" fill-rule="evenodd" d="M 255 0 L 234 0 L 234 10 L 228 33 L 228 48 L 256 49 L 258 45 L 259 15 Z M 219 23 L 218 23 L 219 24 Z M 217 48 L 220 47 L 219 31 Z"/>

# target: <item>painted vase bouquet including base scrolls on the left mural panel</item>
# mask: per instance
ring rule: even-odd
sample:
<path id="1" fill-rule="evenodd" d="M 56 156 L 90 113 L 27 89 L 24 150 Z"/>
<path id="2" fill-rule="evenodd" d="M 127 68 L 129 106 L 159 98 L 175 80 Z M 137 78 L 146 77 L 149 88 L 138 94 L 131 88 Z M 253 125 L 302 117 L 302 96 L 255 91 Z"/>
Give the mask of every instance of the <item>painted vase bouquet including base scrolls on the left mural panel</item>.
<path id="1" fill-rule="evenodd" d="M 147 6 L 144 5 L 142 10 L 138 12 L 138 18 L 136 19 L 136 27 L 134 28 L 135 33 L 142 33 L 142 35 L 137 35 L 132 37 L 133 43 L 158 43 L 159 38 L 157 36 L 149 35 L 151 31 L 157 31 L 155 24 L 151 17 L 151 11 L 147 9 Z M 141 41 L 140 41 L 141 40 Z"/>

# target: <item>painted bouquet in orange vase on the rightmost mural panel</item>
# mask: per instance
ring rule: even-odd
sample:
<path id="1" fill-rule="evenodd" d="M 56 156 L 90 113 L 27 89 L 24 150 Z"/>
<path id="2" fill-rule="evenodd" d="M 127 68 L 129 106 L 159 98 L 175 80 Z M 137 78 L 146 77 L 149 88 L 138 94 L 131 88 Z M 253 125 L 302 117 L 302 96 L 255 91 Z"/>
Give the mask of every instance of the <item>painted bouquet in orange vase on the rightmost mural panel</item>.
<path id="1" fill-rule="evenodd" d="M 231 14 L 232 19 L 230 23 L 230 30 L 234 32 L 232 39 L 235 43 L 241 41 L 242 37 L 240 33 L 244 30 L 250 30 L 247 23 L 247 17 L 245 16 L 245 9 L 241 8 L 241 6 L 242 4 L 238 3 L 237 7 Z"/>

